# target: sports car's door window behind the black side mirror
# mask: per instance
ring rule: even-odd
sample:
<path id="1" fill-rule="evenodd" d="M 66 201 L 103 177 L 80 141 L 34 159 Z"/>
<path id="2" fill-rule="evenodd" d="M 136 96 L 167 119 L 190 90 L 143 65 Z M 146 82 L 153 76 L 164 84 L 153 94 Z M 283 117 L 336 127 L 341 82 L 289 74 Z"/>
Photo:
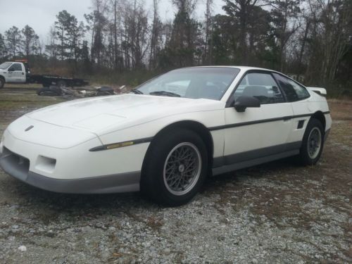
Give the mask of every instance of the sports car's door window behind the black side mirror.
<path id="1" fill-rule="evenodd" d="M 284 103 L 284 96 L 269 73 L 247 73 L 234 92 L 234 100 L 243 95 L 256 97 L 260 104 Z"/>

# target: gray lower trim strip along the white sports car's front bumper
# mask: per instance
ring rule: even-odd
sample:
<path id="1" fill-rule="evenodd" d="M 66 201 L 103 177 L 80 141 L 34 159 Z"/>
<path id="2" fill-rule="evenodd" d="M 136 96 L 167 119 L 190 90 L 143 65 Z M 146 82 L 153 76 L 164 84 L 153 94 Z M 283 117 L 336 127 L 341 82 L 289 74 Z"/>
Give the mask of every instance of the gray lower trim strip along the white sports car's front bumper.
<path id="1" fill-rule="evenodd" d="M 80 179 L 55 179 L 25 170 L 13 155 L 0 156 L 0 167 L 9 175 L 34 187 L 65 194 L 109 194 L 139 191 L 141 172 L 86 177 Z"/>

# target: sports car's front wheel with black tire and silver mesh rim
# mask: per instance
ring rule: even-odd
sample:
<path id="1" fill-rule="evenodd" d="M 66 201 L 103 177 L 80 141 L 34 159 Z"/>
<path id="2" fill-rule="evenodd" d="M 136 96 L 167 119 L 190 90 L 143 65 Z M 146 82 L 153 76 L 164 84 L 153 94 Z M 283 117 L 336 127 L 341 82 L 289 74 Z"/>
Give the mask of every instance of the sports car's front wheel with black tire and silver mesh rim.
<path id="1" fill-rule="evenodd" d="M 206 180 L 208 153 L 201 137 L 180 129 L 152 142 L 142 169 L 142 194 L 165 206 L 191 201 Z"/>

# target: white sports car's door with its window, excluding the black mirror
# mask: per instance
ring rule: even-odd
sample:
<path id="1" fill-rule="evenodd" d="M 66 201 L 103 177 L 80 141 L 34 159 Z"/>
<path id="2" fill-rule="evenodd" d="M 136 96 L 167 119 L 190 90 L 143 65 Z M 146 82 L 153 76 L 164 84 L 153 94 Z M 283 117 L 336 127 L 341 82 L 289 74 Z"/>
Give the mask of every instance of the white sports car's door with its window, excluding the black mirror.
<path id="1" fill-rule="evenodd" d="M 247 72 L 233 96 L 234 101 L 239 96 L 253 96 L 260 101 L 260 107 L 246 108 L 244 112 L 233 106 L 225 108 L 224 165 L 289 151 L 287 139 L 293 111 L 270 72 Z"/>

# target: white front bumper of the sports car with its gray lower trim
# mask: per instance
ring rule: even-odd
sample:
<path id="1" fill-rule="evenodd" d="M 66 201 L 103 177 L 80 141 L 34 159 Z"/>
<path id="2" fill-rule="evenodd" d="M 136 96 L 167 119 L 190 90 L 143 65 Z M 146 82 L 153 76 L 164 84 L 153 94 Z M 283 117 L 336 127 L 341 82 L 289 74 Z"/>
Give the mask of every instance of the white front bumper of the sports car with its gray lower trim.
<path id="1" fill-rule="evenodd" d="M 0 168 L 34 187 L 70 194 L 139 191 L 149 143 L 91 152 L 97 140 L 56 149 L 16 139 L 7 130 L 0 146 Z M 44 160 L 43 160 L 44 158 Z M 47 160 L 55 161 L 48 163 Z"/>

